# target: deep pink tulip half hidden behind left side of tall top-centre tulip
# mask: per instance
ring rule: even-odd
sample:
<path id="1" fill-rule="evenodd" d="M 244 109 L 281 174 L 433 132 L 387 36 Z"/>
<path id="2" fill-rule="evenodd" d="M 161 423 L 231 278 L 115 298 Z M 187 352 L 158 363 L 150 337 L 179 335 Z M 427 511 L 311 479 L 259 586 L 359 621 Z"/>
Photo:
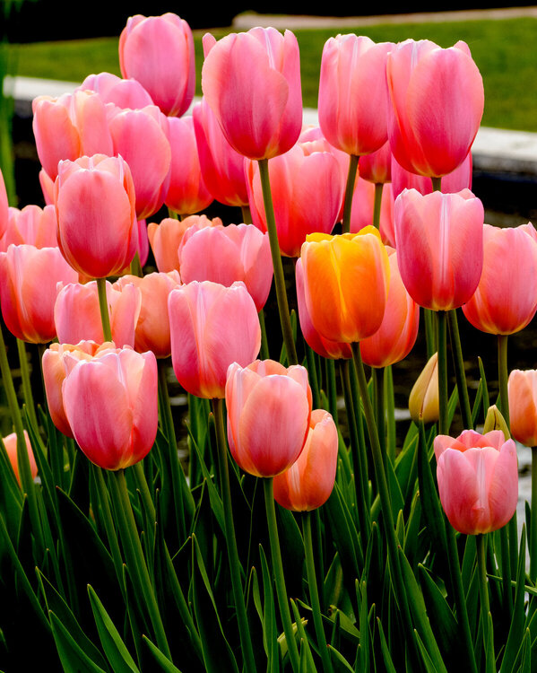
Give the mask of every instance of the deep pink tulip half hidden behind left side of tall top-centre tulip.
<path id="1" fill-rule="evenodd" d="M 224 205 L 248 205 L 244 156 L 228 143 L 207 101 L 195 104 L 192 117 L 200 167 L 212 197 Z"/>

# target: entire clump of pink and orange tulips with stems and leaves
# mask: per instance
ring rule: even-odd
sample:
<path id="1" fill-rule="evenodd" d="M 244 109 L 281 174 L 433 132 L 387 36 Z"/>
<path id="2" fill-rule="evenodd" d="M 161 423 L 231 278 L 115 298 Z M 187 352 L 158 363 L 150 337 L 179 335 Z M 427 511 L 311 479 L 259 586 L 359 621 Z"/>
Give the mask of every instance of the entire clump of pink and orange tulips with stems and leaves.
<path id="1" fill-rule="evenodd" d="M 136 15 L 122 77 L 34 101 L 43 205 L 0 180 L 5 671 L 535 668 L 537 233 L 471 191 L 481 74 L 463 42 L 319 57 L 303 127 L 290 31 L 206 35 L 194 101 L 186 22 Z"/>

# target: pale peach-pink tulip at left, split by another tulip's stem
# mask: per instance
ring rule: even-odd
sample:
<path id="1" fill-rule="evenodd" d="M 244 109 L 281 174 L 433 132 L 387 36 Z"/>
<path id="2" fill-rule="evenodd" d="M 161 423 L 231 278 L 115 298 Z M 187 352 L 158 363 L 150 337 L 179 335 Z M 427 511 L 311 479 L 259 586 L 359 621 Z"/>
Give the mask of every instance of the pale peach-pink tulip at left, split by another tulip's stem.
<path id="1" fill-rule="evenodd" d="M 106 282 L 112 340 L 117 347 L 134 346 L 134 328 L 140 315 L 142 296 L 134 284 L 113 286 Z M 89 339 L 104 342 L 97 283 L 58 285 L 54 307 L 60 344 L 78 344 Z"/>

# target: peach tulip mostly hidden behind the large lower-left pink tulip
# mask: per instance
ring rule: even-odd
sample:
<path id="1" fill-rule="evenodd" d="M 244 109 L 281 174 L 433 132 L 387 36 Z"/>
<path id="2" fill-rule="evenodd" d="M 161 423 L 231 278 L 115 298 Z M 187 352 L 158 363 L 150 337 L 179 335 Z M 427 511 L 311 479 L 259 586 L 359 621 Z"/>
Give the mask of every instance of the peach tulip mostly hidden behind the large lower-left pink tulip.
<path id="1" fill-rule="evenodd" d="M 62 395 L 62 384 L 67 373 L 65 371 L 65 357 L 68 356 L 72 360 L 91 360 L 94 355 L 115 347 L 109 341 L 104 344 L 97 344 L 94 341 L 81 341 L 76 345 L 54 343 L 49 345 L 43 354 L 41 367 L 47 395 L 48 413 L 56 428 L 67 437 L 73 437 L 73 433 L 65 417 L 64 397 Z"/>

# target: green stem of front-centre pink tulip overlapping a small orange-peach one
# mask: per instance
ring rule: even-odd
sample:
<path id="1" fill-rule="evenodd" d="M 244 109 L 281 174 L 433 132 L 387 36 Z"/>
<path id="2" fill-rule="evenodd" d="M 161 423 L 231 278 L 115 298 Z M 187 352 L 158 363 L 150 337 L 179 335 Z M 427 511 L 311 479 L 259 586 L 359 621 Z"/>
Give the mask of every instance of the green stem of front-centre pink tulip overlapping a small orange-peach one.
<path id="1" fill-rule="evenodd" d="M 285 576 L 283 574 L 283 564 L 281 563 L 280 538 L 278 537 L 278 525 L 276 523 L 276 509 L 274 506 L 273 477 L 263 479 L 264 486 L 264 505 L 266 508 L 266 520 L 268 523 L 269 538 L 271 542 L 271 556 L 273 559 L 273 573 L 276 582 L 276 594 L 280 606 L 281 623 L 283 633 L 287 642 L 289 658 L 294 673 L 299 673 L 300 658 L 297 641 L 293 632 L 293 624 L 290 618 L 289 599 L 287 598 L 287 589 L 285 588 Z"/>

